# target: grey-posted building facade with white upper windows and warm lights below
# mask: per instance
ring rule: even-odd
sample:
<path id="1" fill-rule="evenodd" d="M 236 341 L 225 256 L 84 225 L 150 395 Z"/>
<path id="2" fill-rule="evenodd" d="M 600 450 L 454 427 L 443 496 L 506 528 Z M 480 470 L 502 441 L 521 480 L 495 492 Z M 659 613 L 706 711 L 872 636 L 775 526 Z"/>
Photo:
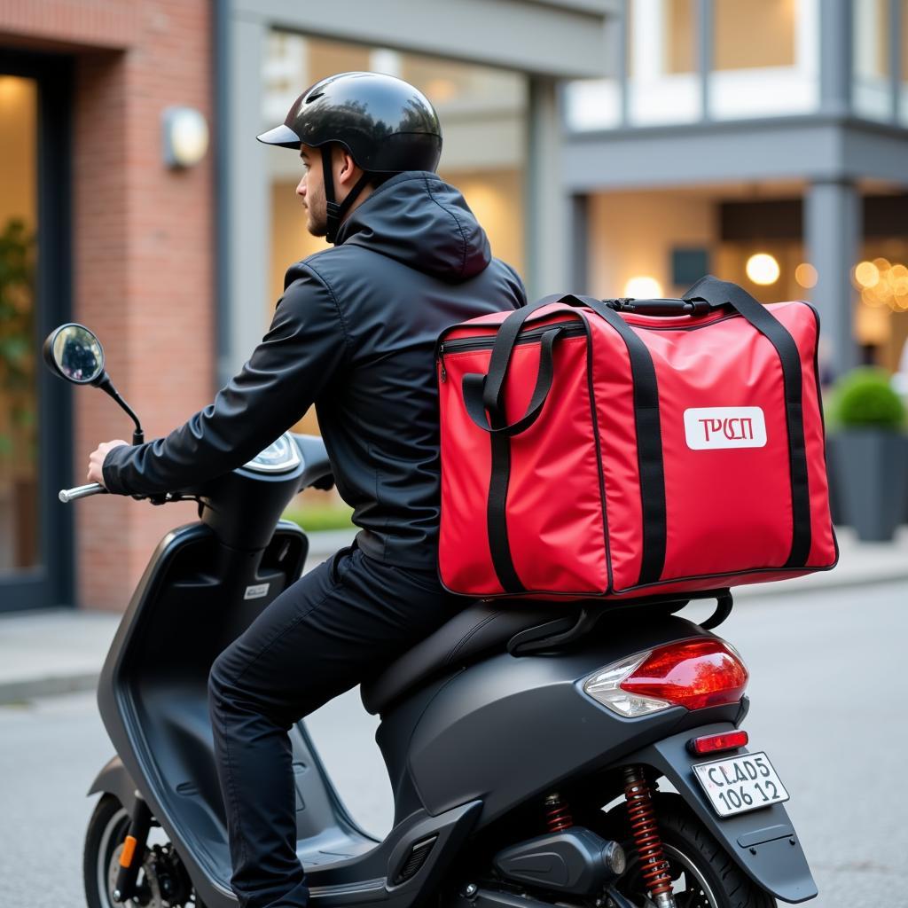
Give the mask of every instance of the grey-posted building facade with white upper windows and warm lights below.
<path id="1" fill-rule="evenodd" d="M 566 89 L 573 283 L 704 271 L 809 299 L 829 374 L 908 339 L 908 3 L 624 0 L 614 78 Z"/>

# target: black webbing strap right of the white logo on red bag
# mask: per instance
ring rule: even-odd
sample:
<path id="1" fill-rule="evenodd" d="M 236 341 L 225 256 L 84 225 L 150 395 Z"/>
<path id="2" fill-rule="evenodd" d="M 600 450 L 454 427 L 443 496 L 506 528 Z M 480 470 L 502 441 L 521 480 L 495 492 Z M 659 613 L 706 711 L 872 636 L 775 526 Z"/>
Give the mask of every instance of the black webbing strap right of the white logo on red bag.
<path id="1" fill-rule="evenodd" d="M 706 300 L 713 306 L 730 305 L 774 347 L 782 363 L 785 419 L 788 426 L 788 459 L 792 484 L 792 548 L 785 568 L 803 568 L 810 558 L 810 489 L 807 484 L 807 451 L 804 446 L 803 376 L 801 354 L 795 339 L 772 312 L 743 287 L 707 274 L 685 294 L 686 299 Z"/>

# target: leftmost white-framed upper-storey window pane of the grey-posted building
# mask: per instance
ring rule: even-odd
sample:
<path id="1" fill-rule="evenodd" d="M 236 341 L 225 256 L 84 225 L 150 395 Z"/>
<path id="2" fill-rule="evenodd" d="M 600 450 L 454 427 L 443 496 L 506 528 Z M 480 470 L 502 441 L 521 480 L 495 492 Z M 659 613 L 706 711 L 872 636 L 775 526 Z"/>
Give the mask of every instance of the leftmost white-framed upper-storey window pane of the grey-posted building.
<path id="1" fill-rule="evenodd" d="M 641 126 L 698 120 L 696 0 L 631 0 L 628 15 L 628 119 Z"/>

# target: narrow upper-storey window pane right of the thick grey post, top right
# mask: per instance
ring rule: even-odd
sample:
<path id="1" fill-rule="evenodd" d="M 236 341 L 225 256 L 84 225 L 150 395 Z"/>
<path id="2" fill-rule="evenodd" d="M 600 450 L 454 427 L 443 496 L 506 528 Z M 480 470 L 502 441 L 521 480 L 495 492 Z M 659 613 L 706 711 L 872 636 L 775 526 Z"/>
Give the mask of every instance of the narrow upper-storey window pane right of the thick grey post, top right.
<path id="1" fill-rule="evenodd" d="M 889 0 L 861 0 L 853 10 L 854 110 L 874 120 L 891 120 Z"/>

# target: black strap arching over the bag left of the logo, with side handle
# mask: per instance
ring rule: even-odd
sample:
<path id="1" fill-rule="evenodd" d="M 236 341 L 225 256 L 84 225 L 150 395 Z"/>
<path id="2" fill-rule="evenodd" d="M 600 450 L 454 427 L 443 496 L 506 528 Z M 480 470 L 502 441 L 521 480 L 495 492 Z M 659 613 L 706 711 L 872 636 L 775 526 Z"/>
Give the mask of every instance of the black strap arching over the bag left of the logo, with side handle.
<path id="1" fill-rule="evenodd" d="M 489 551 L 498 582 L 508 593 L 525 592 L 514 568 L 508 544 L 507 498 L 510 479 L 510 437 L 527 429 L 538 419 L 551 390 L 554 367 L 551 348 L 557 331 L 547 331 L 539 353 L 536 388 L 527 412 L 508 425 L 501 395 L 518 334 L 529 315 L 553 302 L 564 302 L 595 311 L 614 328 L 627 346 L 634 384 L 634 413 L 637 429 L 637 457 L 643 508 L 643 558 L 639 583 L 655 583 L 662 575 L 666 556 L 666 489 L 662 465 L 662 436 L 659 428 L 659 400 L 656 368 L 646 344 L 627 322 L 604 302 L 592 297 L 560 295 L 543 297 L 509 315 L 498 328 L 487 375 L 465 375 L 462 384 L 464 405 L 470 419 L 491 437 L 492 469 L 489 479 Z M 548 338 L 548 341 L 547 341 Z M 548 349 L 547 349 L 548 348 Z M 489 412 L 487 422 L 486 411 Z"/>

